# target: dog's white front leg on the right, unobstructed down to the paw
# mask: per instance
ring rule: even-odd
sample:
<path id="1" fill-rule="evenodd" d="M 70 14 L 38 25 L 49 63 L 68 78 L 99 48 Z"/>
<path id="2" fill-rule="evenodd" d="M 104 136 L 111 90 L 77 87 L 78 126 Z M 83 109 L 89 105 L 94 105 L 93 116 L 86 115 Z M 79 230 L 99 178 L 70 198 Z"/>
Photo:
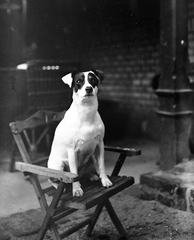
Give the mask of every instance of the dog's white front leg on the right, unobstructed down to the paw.
<path id="1" fill-rule="evenodd" d="M 112 186 L 112 182 L 109 180 L 109 178 L 106 175 L 105 172 L 105 165 L 104 165 L 104 142 L 101 140 L 98 145 L 98 166 L 99 166 L 99 174 L 102 182 L 102 186 L 104 187 L 110 187 Z"/>

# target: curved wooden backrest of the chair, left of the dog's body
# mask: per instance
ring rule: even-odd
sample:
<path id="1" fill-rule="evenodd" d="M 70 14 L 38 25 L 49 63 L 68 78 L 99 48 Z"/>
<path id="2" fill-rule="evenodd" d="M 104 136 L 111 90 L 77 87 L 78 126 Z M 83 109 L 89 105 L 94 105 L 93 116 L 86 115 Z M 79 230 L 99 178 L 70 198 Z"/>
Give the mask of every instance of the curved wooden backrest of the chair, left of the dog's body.
<path id="1" fill-rule="evenodd" d="M 37 141 L 41 141 L 43 136 L 50 129 L 53 129 L 54 132 L 56 125 L 63 119 L 65 112 L 66 111 L 54 112 L 49 110 L 39 110 L 24 121 L 11 122 L 9 124 L 24 162 L 32 163 L 32 158 L 26 145 L 26 142 L 29 141 L 27 131 L 38 129 L 40 127 L 44 128 L 44 130 L 41 131 L 40 136 L 37 137 Z M 46 166 L 47 160 L 48 157 L 33 159 L 33 164 Z"/>

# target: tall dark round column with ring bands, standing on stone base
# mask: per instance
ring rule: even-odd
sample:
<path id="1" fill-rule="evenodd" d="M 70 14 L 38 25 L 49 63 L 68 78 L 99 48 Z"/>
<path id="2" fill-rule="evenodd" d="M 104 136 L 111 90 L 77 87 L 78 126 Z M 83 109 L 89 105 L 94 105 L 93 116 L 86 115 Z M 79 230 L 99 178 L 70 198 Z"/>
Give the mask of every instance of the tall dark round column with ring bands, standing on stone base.
<path id="1" fill-rule="evenodd" d="M 187 0 L 161 2 L 159 97 L 160 168 L 167 170 L 189 154 L 192 94 L 188 79 Z"/>

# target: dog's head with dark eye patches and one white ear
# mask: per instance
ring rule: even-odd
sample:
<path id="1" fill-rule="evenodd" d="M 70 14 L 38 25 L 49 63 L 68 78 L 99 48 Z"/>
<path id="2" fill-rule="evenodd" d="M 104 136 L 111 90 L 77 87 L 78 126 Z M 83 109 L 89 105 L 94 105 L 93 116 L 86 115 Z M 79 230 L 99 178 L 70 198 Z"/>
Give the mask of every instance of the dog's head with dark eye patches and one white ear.
<path id="1" fill-rule="evenodd" d="M 100 70 L 86 72 L 73 72 L 65 75 L 62 80 L 73 88 L 74 93 L 84 99 L 97 95 L 98 85 L 104 79 L 104 73 Z"/>

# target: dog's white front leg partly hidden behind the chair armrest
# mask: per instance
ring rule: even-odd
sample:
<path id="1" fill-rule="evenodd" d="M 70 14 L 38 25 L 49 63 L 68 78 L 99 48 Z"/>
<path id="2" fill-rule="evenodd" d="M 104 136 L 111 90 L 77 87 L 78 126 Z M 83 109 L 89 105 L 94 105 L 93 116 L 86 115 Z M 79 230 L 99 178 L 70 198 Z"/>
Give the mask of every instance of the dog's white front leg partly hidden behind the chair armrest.
<path id="1" fill-rule="evenodd" d="M 73 148 L 68 149 L 68 162 L 70 172 L 78 175 L 77 160 L 77 152 Z M 72 191 L 73 196 L 81 197 L 83 195 L 83 190 L 79 181 L 73 183 Z"/>

